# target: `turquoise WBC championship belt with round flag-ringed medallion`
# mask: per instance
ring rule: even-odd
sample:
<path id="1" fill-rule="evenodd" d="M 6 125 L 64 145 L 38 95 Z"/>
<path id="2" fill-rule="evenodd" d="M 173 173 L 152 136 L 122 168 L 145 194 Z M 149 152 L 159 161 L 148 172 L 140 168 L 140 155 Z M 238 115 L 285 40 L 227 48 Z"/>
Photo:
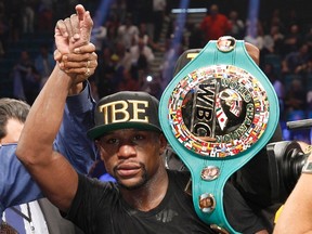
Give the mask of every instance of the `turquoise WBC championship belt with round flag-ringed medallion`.
<path id="1" fill-rule="evenodd" d="M 237 233 L 224 213 L 223 187 L 278 125 L 271 82 L 243 40 L 221 37 L 174 76 L 159 105 L 164 133 L 191 171 L 196 213 L 218 233 Z"/>

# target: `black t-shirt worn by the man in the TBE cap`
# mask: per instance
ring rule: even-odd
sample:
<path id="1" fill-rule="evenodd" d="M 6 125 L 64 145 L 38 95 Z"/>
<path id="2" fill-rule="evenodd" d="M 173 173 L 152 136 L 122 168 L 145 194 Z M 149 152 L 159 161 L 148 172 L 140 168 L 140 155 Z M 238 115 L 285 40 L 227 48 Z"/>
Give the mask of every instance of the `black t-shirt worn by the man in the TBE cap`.
<path id="1" fill-rule="evenodd" d="M 213 233 L 197 217 L 192 197 L 184 192 L 190 172 L 168 170 L 168 174 L 169 188 L 165 198 L 147 212 L 131 208 L 116 184 L 79 176 L 78 191 L 67 219 L 86 234 Z M 225 210 L 227 220 L 235 230 L 255 233 L 263 229 L 239 193 L 229 183 L 224 187 L 224 204 L 229 206 Z"/>

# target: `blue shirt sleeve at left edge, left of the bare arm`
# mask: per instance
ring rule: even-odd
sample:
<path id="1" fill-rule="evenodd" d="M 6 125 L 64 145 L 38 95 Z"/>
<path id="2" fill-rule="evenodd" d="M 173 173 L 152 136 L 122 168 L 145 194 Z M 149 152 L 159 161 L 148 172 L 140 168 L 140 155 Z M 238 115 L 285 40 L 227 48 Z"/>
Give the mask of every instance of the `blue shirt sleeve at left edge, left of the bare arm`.
<path id="1" fill-rule="evenodd" d="M 37 183 L 15 155 L 16 144 L 0 145 L 0 214 L 5 208 L 42 197 Z"/>

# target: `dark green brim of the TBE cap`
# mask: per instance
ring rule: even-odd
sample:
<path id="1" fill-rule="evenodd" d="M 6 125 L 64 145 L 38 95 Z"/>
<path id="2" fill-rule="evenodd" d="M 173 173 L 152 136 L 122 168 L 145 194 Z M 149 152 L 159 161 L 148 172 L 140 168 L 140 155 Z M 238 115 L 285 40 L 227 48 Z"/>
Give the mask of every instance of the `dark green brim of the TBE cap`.
<path id="1" fill-rule="evenodd" d="M 161 130 L 154 125 L 151 123 L 143 123 L 143 122 L 117 122 L 117 123 L 110 123 L 108 126 L 96 126 L 88 131 L 88 136 L 90 139 L 98 139 L 102 136 L 103 134 L 119 130 L 119 129 L 139 129 L 139 130 L 146 130 L 146 131 L 157 131 L 161 132 Z"/>

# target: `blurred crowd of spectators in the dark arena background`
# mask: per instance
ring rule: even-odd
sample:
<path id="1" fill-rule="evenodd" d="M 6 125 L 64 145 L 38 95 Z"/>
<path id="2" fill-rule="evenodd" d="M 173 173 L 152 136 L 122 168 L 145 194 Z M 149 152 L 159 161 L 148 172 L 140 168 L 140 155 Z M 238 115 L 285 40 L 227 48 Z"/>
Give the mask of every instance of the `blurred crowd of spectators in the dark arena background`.
<path id="1" fill-rule="evenodd" d="M 0 0 L 0 57 L 24 35 L 53 31 L 56 20 L 70 14 L 77 3 L 94 16 L 99 67 L 90 82 L 95 99 L 120 90 L 144 90 L 160 98 L 183 51 L 231 35 L 260 49 L 260 67 L 276 90 L 281 122 L 312 117 L 312 22 L 294 9 L 276 9 L 255 23 L 236 9 L 225 12 L 212 4 L 202 18 L 188 22 L 186 15 L 183 22 L 171 13 L 169 0 L 112 0 L 106 5 L 98 0 Z M 53 66 L 53 44 L 38 46 L 35 56 L 25 48 L 12 68 L 12 95 L 31 104 Z M 285 130 L 284 136 L 310 141 L 307 134 L 291 134 Z"/>

